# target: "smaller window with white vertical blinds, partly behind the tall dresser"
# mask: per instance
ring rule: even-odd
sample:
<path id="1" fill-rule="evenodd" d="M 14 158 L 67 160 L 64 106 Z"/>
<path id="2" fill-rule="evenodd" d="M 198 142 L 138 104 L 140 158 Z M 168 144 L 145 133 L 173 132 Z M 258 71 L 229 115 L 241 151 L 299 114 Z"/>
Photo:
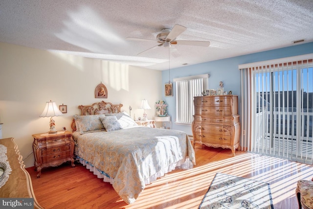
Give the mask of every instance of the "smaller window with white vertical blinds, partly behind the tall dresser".
<path id="1" fill-rule="evenodd" d="M 191 124 L 193 121 L 194 96 L 201 96 L 208 89 L 208 74 L 175 78 L 176 85 L 176 123 Z"/>

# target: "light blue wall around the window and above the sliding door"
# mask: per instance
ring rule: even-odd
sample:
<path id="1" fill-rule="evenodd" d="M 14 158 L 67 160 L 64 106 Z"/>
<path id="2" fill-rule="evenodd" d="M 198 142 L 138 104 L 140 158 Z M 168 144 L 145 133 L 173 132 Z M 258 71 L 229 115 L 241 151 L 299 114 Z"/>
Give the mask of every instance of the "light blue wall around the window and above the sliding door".
<path id="1" fill-rule="evenodd" d="M 219 88 L 219 82 L 223 81 L 224 91 L 227 92 L 232 91 L 234 95 L 238 95 L 239 96 L 238 100 L 240 102 L 240 70 L 238 70 L 239 65 L 310 53 L 313 53 L 313 42 L 171 69 L 170 80 L 173 83 L 173 78 L 208 73 L 210 74 L 209 89 Z M 162 82 L 166 84 L 168 83 L 168 80 L 169 80 L 169 70 L 163 70 Z M 165 90 L 163 85 L 162 92 L 164 93 L 164 91 Z M 171 116 L 172 119 L 172 129 L 181 130 L 186 132 L 188 135 L 192 135 L 191 125 L 175 124 L 176 118 L 175 91 L 176 87 L 175 83 L 173 83 L 174 96 L 169 97 L 163 94 L 162 97 L 162 99 L 165 100 L 168 104 L 168 114 Z M 240 107 L 240 104 L 238 105 Z M 239 113 L 241 113 L 241 110 L 239 110 Z"/>

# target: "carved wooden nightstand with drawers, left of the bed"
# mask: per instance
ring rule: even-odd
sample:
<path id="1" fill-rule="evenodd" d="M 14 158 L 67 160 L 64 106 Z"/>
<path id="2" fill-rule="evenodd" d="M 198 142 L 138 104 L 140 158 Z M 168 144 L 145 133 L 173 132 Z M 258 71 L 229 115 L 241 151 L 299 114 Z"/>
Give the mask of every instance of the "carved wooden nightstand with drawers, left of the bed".
<path id="1" fill-rule="evenodd" d="M 34 134 L 33 150 L 37 178 L 44 167 L 58 166 L 71 161 L 74 167 L 74 140 L 69 131 L 58 131 L 57 134 Z"/>

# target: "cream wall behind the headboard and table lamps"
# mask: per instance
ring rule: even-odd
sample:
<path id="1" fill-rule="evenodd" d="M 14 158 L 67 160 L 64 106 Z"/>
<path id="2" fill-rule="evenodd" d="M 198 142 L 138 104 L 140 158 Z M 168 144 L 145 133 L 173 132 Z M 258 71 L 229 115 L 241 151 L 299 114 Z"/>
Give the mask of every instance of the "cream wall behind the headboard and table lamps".
<path id="1" fill-rule="evenodd" d="M 67 114 L 54 117 L 56 128 L 70 130 L 72 116 L 80 114 L 77 106 L 99 101 L 122 103 L 122 110 L 142 116 L 138 109 L 148 99 L 156 114 L 155 102 L 162 97 L 162 74 L 124 64 L 49 52 L 24 46 L 0 43 L 0 123 L 2 137 L 14 137 L 26 167 L 34 165 L 32 134 L 49 129 L 48 117 L 39 117 L 45 102 L 67 105 Z M 107 99 L 94 98 L 102 82 Z M 28 158 L 26 158 L 29 155 Z"/>

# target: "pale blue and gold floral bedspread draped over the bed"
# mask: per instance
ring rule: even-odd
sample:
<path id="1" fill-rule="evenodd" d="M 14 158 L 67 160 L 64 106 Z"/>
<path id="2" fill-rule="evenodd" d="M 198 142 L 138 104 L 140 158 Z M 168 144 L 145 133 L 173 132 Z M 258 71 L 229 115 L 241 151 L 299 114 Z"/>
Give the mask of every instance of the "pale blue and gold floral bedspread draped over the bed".
<path id="1" fill-rule="evenodd" d="M 152 176 L 160 177 L 176 166 L 189 169 L 196 164 L 187 134 L 177 130 L 138 126 L 83 135 L 75 132 L 73 139 L 75 154 L 104 171 L 128 204 L 134 203 Z"/>

